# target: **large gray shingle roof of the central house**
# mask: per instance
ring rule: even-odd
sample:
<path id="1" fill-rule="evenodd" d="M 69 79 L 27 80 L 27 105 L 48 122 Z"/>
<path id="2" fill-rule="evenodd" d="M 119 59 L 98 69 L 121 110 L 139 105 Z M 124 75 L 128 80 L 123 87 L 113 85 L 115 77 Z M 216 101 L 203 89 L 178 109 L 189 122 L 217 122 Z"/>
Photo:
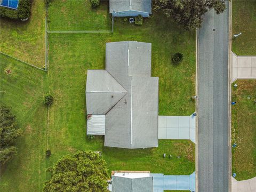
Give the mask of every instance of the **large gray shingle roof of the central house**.
<path id="1" fill-rule="evenodd" d="M 106 70 L 89 70 L 87 114 L 106 115 L 105 146 L 158 146 L 158 77 L 151 43 L 106 43 Z"/>

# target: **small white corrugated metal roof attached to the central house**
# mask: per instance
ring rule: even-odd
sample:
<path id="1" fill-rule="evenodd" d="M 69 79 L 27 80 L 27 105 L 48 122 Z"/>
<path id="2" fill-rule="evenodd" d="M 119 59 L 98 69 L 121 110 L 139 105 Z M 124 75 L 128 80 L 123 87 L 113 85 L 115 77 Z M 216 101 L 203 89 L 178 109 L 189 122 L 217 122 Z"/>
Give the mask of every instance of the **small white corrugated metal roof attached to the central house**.
<path id="1" fill-rule="evenodd" d="M 87 118 L 88 135 L 105 135 L 105 115 L 91 115 Z"/>

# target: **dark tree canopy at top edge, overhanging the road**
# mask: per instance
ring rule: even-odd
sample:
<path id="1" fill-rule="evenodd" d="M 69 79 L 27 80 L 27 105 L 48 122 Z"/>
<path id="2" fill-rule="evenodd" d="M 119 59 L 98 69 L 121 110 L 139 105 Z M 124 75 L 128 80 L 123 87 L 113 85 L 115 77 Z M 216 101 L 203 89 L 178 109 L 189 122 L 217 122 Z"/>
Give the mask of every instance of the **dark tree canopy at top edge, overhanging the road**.
<path id="1" fill-rule="evenodd" d="M 164 13 L 173 22 L 186 29 L 199 28 L 202 15 L 214 9 L 217 14 L 226 9 L 223 0 L 155 0 L 154 10 Z"/>

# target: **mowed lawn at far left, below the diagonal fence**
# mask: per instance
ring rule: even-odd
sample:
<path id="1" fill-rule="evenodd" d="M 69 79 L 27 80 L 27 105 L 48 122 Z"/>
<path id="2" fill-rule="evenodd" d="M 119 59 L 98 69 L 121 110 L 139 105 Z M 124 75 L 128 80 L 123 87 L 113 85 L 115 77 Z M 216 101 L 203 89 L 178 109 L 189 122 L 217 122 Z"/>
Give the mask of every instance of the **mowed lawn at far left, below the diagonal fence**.
<path id="1" fill-rule="evenodd" d="M 47 91 L 44 71 L 1 54 L 1 103 L 12 107 L 22 129 L 15 145 L 18 155 L 1 167 L 1 191 L 40 191 L 45 181 Z M 7 75 L 6 70 L 11 74 Z"/>

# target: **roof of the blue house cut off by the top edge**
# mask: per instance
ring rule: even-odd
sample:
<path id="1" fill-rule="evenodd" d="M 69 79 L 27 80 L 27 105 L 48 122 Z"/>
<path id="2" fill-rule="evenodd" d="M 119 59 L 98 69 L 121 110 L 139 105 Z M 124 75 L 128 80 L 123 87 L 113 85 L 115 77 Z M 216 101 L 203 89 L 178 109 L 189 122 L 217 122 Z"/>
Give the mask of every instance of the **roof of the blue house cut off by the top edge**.
<path id="1" fill-rule="evenodd" d="M 151 13 L 151 0 L 109 0 L 109 13 L 128 10 Z"/>

